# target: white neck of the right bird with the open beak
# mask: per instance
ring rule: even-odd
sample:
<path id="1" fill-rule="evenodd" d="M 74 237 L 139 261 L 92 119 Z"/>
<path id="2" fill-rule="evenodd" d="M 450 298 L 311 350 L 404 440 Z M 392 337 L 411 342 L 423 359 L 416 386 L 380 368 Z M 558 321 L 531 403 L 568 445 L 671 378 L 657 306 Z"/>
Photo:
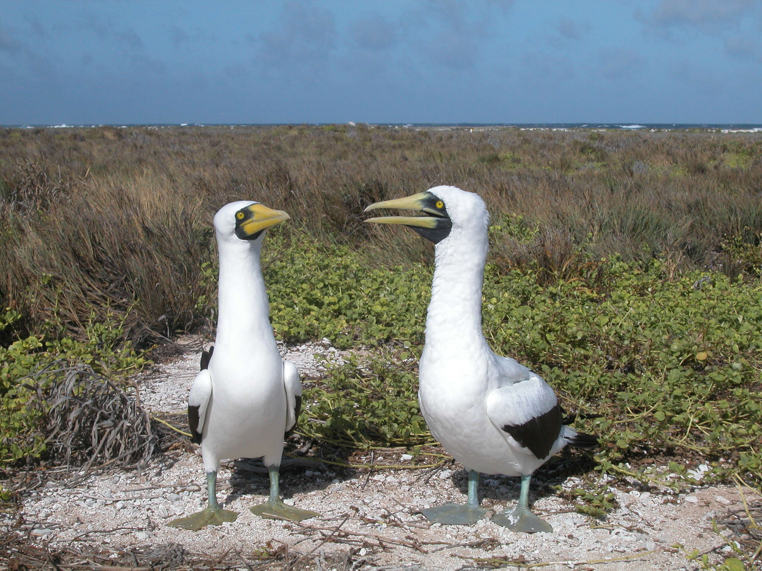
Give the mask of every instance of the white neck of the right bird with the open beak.
<path id="1" fill-rule="evenodd" d="M 486 344 L 482 333 L 482 282 L 487 259 L 486 233 L 451 234 L 436 247 L 431 302 L 426 317 L 426 347 L 441 355 Z"/>

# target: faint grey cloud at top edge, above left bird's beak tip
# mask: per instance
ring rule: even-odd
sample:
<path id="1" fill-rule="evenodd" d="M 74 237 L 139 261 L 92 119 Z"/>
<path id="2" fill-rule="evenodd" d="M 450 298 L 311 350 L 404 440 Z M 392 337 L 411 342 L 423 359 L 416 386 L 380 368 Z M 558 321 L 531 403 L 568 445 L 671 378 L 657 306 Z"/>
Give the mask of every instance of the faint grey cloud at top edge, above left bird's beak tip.
<path id="1" fill-rule="evenodd" d="M 256 60 L 274 69 L 325 65 L 335 49 L 335 39 L 333 12 L 306 2 L 287 2 L 279 29 L 247 36 L 249 43 L 258 46 Z"/>

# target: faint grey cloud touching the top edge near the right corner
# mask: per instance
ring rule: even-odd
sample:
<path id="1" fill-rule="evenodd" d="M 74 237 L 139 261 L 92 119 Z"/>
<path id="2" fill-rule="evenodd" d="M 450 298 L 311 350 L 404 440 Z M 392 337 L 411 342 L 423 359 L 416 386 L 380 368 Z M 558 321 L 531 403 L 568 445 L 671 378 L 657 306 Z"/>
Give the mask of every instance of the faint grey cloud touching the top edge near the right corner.
<path id="1" fill-rule="evenodd" d="M 651 14 L 635 11 L 636 20 L 668 35 L 672 29 L 700 29 L 716 33 L 738 26 L 754 11 L 757 0 L 661 0 Z"/>

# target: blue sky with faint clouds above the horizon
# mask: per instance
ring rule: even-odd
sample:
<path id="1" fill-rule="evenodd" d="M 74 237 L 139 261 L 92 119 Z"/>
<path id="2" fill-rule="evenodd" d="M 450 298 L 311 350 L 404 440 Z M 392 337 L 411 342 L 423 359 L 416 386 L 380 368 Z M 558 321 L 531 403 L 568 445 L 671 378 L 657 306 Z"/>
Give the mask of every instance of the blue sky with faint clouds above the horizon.
<path id="1" fill-rule="evenodd" d="M 762 123 L 762 0 L 16 2 L 0 124 Z"/>

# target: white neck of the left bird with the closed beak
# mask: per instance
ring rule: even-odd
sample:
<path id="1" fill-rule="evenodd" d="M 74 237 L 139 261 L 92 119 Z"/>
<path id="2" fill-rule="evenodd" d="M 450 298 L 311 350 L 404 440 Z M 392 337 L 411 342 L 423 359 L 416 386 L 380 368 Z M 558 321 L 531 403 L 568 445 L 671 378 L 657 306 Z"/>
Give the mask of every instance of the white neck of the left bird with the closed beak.
<path id="1" fill-rule="evenodd" d="M 259 266 L 261 240 L 218 241 L 219 316 L 216 344 L 241 346 L 252 341 L 275 345 L 270 301 Z"/>

